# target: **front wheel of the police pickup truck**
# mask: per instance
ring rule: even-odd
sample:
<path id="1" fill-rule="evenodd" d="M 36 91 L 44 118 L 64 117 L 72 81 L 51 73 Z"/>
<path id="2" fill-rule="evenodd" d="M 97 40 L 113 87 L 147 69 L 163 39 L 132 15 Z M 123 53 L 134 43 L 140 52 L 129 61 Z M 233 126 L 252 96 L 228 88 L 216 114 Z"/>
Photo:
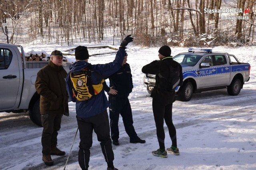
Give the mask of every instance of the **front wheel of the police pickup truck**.
<path id="1" fill-rule="evenodd" d="M 178 97 L 181 101 L 188 102 L 192 98 L 193 91 L 193 84 L 191 82 L 187 82 L 180 88 Z"/>

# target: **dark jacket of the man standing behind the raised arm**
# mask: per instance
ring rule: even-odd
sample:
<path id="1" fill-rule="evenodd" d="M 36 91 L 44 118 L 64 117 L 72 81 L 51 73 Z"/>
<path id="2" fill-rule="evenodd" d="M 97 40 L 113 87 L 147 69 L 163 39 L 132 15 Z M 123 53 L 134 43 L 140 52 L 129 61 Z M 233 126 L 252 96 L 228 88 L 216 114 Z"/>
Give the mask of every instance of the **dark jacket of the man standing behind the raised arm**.
<path id="1" fill-rule="evenodd" d="M 132 92 L 132 74 L 128 63 L 124 64 L 117 72 L 109 77 L 110 87 L 117 90 L 117 94 L 109 94 L 109 96 L 116 98 L 128 97 Z"/>

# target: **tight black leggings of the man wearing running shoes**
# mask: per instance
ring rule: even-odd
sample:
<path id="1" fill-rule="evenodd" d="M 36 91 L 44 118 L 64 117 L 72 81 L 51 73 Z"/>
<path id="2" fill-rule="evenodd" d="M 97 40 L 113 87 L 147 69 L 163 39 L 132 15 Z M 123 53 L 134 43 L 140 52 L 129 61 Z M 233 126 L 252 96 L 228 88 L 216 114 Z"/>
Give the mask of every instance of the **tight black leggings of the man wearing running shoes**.
<path id="1" fill-rule="evenodd" d="M 169 130 L 169 135 L 172 140 L 172 146 L 177 147 L 176 129 L 174 127 L 174 124 L 172 123 L 172 104 L 163 105 L 161 102 L 158 102 L 158 100 L 153 98 L 152 108 L 156 123 L 156 135 L 159 143 L 159 148 L 165 149 L 164 121 Z"/>

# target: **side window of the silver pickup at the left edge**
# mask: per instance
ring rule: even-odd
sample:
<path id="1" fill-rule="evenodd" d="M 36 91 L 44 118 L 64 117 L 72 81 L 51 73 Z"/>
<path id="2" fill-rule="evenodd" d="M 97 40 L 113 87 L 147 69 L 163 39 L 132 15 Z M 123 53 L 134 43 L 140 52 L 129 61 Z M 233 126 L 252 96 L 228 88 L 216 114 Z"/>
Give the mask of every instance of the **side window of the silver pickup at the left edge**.
<path id="1" fill-rule="evenodd" d="M 0 69 L 7 69 L 12 61 L 12 51 L 0 49 Z"/>

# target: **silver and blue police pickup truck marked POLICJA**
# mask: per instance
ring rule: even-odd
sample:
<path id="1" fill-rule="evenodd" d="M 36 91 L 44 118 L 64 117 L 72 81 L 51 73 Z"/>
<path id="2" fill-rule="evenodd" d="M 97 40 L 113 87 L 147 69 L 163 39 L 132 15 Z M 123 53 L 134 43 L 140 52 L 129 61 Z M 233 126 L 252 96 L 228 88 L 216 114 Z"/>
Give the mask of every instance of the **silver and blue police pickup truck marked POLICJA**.
<path id="1" fill-rule="evenodd" d="M 184 82 L 175 89 L 178 98 L 187 102 L 193 93 L 227 88 L 228 94 L 236 96 L 250 79 L 250 64 L 240 63 L 234 55 L 212 52 L 212 49 L 188 49 L 173 57 L 182 66 Z M 144 85 L 151 93 L 156 82 L 155 75 L 145 74 Z"/>

